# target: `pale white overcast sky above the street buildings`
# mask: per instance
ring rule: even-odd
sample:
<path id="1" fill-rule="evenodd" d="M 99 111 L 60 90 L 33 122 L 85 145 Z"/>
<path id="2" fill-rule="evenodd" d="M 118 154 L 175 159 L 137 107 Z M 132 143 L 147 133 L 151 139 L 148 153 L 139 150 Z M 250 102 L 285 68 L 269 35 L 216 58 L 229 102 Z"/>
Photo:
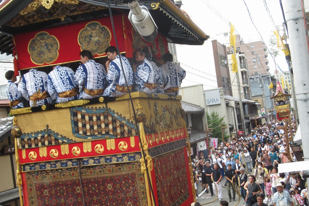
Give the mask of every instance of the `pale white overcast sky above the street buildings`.
<path id="1" fill-rule="evenodd" d="M 229 22 L 234 24 L 236 34 L 239 34 L 245 43 L 262 41 L 263 38 L 267 47 L 275 26 L 281 25 L 279 29 L 282 29 L 283 16 L 279 0 L 182 0 L 182 3 L 184 5 L 181 9 L 188 13 L 210 39 L 201 46 L 176 45 L 178 62 L 187 71 L 181 86 L 201 83 L 204 84 L 204 89 L 217 87 L 211 41 L 215 39 L 222 44 L 229 42 L 229 36 L 223 35 L 230 31 Z M 251 22 L 245 3 L 260 34 Z M 283 31 L 280 31 L 280 35 L 283 35 Z M 270 55 L 268 60 L 270 73 L 273 74 L 275 63 Z M 281 70 L 288 71 L 282 51 L 279 51 L 275 60 Z"/>

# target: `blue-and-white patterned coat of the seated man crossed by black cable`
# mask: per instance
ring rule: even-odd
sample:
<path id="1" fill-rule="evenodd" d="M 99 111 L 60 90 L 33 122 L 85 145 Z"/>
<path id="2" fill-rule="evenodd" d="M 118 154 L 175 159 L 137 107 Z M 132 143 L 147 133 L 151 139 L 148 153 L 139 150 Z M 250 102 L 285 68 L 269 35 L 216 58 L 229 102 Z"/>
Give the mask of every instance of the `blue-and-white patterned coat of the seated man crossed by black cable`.
<path id="1" fill-rule="evenodd" d="M 121 56 L 121 55 L 120 55 Z M 121 62 L 125 75 L 122 72 L 119 55 L 110 62 L 106 80 L 108 81 L 108 87 L 104 91 L 104 96 L 117 97 L 124 95 L 127 92 L 119 92 L 116 90 L 116 84 L 120 86 L 126 86 L 125 77 L 128 82 L 128 86 L 133 85 L 133 70 L 127 58 L 121 56 Z"/>

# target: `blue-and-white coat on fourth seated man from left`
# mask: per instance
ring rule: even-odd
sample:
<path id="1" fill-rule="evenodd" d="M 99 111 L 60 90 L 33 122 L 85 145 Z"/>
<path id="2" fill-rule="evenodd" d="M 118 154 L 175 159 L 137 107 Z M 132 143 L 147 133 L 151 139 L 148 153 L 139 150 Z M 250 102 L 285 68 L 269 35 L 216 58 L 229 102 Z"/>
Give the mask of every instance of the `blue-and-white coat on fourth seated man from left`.
<path id="1" fill-rule="evenodd" d="M 92 96 L 84 91 L 84 88 L 89 90 L 104 90 L 106 71 L 102 64 L 91 59 L 77 68 L 74 77 L 80 92 L 79 99 L 92 99 L 103 95 Z"/>

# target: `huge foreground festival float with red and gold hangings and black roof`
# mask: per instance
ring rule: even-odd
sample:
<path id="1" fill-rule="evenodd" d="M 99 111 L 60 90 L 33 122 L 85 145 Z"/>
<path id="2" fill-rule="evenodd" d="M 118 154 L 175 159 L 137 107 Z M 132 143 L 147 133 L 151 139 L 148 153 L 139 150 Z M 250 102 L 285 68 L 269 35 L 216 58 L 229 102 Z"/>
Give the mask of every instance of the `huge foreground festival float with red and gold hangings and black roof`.
<path id="1" fill-rule="evenodd" d="M 202 45 L 207 40 L 170 0 L 140 4 L 158 27 L 150 42 L 134 31 L 127 5 L 110 5 L 119 49 L 127 58 L 150 46 L 163 63 L 168 41 Z M 49 73 L 53 65 L 76 69 L 84 49 L 105 65 L 104 50 L 116 43 L 109 15 L 108 4 L 99 0 L 4 0 L 0 51 L 13 54 L 16 75 L 31 68 Z M 11 109 L 21 205 L 196 201 L 181 96 L 131 92 L 131 97 Z"/>

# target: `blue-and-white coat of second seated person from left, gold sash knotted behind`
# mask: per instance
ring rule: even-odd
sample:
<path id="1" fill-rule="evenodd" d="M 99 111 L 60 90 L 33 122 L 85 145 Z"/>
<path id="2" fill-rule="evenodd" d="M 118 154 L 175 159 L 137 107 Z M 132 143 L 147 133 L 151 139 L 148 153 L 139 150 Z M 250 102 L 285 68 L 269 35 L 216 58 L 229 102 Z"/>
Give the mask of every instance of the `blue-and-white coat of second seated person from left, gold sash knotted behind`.
<path id="1" fill-rule="evenodd" d="M 49 104 L 52 103 L 52 99 L 50 97 L 37 100 L 35 105 L 33 105 L 33 101 L 30 100 L 30 96 L 37 93 L 39 89 L 41 90 L 40 93 L 44 91 L 48 92 L 47 82 L 48 75 L 45 72 L 30 69 L 28 73 L 22 76 L 21 81 L 18 84 L 18 91 L 22 93 L 25 99 L 29 100 L 31 107 Z"/>

